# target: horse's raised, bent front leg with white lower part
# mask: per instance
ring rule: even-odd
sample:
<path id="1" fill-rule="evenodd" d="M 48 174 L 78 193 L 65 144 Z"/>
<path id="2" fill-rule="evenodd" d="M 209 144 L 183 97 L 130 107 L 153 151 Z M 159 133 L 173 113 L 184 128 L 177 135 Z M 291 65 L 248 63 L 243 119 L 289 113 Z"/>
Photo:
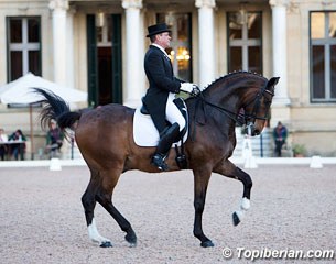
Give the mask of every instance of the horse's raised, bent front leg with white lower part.
<path id="1" fill-rule="evenodd" d="M 240 180 L 243 185 L 242 200 L 240 208 L 232 213 L 234 226 L 238 226 L 243 218 L 245 212 L 250 208 L 252 179 L 250 175 L 237 167 L 230 161 L 224 161 L 213 170 L 214 173 L 221 174 L 231 178 Z"/>

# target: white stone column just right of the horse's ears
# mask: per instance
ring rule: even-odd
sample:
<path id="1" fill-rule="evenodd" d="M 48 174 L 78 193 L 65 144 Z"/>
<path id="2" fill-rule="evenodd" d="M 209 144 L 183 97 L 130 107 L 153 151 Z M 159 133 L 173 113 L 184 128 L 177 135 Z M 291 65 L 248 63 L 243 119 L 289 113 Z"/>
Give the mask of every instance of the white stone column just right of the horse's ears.
<path id="1" fill-rule="evenodd" d="M 270 0 L 272 8 L 273 76 L 280 77 L 273 103 L 289 105 L 286 61 L 286 0 Z"/>

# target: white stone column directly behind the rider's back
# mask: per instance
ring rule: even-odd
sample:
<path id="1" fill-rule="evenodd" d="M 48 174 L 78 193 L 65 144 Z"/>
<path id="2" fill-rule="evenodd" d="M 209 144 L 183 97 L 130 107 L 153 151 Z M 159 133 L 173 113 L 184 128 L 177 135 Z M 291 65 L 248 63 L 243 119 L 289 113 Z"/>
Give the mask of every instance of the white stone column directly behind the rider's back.
<path id="1" fill-rule="evenodd" d="M 140 43 L 143 42 L 143 35 L 140 20 L 140 9 L 142 0 L 122 0 L 122 8 L 126 9 L 126 95 L 123 102 L 130 107 L 139 106 L 142 92 L 141 73 L 143 72 Z"/>

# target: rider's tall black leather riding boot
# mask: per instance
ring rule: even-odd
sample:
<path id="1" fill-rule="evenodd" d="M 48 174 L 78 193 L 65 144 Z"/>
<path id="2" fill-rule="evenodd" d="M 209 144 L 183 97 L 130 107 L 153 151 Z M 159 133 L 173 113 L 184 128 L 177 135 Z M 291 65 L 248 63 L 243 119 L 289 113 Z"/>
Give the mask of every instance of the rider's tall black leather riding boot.
<path id="1" fill-rule="evenodd" d="M 152 157 L 152 164 L 161 170 L 169 170 L 169 166 L 164 162 L 172 144 L 177 140 L 180 134 L 178 123 L 173 123 L 170 128 L 162 131 L 160 134 L 159 145 L 155 154 Z"/>

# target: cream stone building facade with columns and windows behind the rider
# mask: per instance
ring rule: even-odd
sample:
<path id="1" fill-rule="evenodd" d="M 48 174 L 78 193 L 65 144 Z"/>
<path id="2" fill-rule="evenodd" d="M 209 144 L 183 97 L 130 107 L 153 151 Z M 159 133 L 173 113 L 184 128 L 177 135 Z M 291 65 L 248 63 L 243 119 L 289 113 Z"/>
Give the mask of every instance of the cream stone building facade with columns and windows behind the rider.
<path id="1" fill-rule="evenodd" d="M 0 86 L 32 72 L 87 91 L 79 107 L 137 107 L 147 28 L 163 21 L 178 77 L 205 87 L 234 70 L 280 76 L 270 128 L 282 121 L 292 145 L 336 155 L 333 0 L 0 0 Z M 29 130 L 26 109 L 1 105 L 0 120 Z"/>

